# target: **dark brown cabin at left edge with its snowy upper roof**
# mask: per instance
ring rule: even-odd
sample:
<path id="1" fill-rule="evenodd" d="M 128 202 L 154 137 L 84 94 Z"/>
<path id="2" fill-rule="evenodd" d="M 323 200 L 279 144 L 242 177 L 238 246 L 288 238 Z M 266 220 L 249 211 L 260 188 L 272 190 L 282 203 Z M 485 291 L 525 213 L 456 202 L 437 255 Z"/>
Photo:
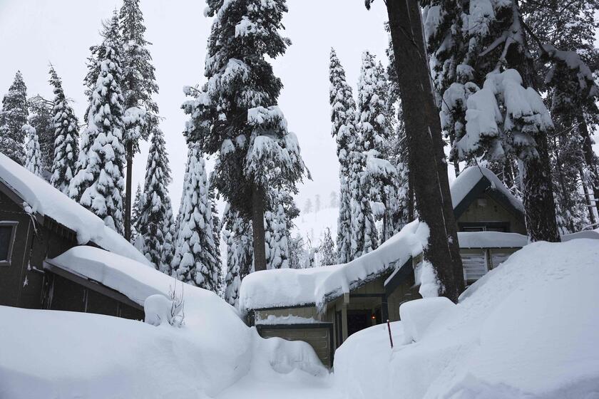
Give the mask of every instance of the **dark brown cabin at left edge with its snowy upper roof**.
<path id="1" fill-rule="evenodd" d="M 82 245 L 153 269 L 95 214 L 0 154 L 0 305 L 143 319 L 138 302 L 55 260 Z"/>

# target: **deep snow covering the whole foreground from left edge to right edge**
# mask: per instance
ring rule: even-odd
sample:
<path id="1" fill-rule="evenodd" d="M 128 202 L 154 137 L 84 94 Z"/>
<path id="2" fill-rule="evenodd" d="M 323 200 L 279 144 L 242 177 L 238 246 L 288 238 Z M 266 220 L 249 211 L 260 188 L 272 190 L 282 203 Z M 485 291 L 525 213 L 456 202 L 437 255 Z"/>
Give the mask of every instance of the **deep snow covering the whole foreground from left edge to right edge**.
<path id="1" fill-rule="evenodd" d="M 458 305 L 403 306 L 352 335 L 334 373 L 187 289 L 186 323 L 0 306 L 0 398 L 599 398 L 599 244 L 531 244 Z M 406 333 L 407 332 L 407 333 Z"/>

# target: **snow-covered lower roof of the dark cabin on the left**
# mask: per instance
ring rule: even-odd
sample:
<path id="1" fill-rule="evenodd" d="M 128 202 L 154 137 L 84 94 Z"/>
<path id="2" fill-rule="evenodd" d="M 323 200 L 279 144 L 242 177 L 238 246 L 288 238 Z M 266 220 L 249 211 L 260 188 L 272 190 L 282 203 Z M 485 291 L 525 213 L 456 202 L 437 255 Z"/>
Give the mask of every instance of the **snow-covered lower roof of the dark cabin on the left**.
<path id="1" fill-rule="evenodd" d="M 168 296 L 170 288 L 178 283 L 146 264 L 86 245 L 73 247 L 47 262 L 85 279 L 98 281 L 140 306 L 150 295 Z"/>

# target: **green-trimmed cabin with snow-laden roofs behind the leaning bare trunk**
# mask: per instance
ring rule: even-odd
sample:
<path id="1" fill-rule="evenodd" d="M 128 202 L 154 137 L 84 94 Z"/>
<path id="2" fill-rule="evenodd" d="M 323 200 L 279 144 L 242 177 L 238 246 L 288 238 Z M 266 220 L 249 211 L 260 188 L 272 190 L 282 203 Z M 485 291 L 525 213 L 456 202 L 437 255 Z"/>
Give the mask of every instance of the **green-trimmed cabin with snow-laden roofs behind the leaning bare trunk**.
<path id="1" fill-rule="evenodd" d="M 469 167 L 451 184 L 464 281 L 473 284 L 528 242 L 522 203 L 490 170 Z M 245 277 L 240 310 L 262 337 L 307 341 L 325 366 L 353 333 L 399 320 L 399 306 L 421 298 L 422 241 L 412 222 L 347 264 L 277 269 Z"/>

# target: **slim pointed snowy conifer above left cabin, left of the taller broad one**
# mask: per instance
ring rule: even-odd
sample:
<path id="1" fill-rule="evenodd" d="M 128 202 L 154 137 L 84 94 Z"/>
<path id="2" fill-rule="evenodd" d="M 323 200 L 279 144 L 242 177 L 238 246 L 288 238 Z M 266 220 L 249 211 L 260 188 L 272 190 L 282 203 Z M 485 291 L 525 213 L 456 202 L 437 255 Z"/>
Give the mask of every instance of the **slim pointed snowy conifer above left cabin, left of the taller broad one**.
<path id="1" fill-rule="evenodd" d="M 51 160 L 51 185 L 68 195 L 68 186 L 76 171 L 79 157 L 78 119 L 62 88 L 61 79 L 53 66 L 50 66 L 50 84 L 53 86 L 53 153 Z"/>

